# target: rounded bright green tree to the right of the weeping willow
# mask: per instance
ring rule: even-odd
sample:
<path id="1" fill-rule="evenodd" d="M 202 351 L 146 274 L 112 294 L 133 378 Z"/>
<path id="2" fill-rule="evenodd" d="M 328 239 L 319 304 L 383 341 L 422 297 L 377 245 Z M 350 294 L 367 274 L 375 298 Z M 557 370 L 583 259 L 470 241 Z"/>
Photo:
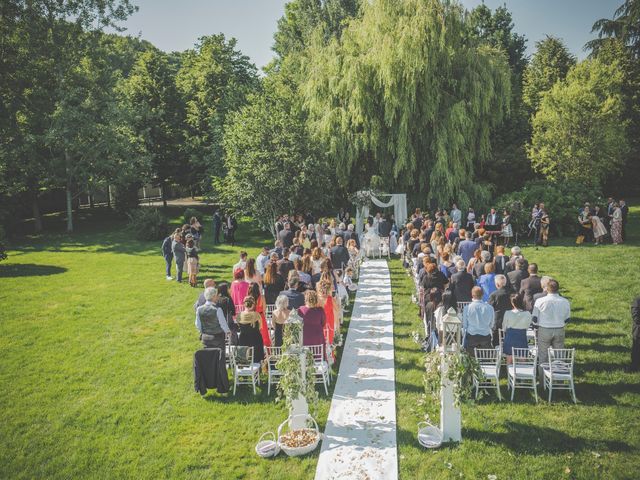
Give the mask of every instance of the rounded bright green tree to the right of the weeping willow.
<path id="1" fill-rule="evenodd" d="M 599 188 L 619 170 L 628 149 L 622 80 L 617 63 L 590 59 L 544 95 L 528 149 L 536 171 Z"/>

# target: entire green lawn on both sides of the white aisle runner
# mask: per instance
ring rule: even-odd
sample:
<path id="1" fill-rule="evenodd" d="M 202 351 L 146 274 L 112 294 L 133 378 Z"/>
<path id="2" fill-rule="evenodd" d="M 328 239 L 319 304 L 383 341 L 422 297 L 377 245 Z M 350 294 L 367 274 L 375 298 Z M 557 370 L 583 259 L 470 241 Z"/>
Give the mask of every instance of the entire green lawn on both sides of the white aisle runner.
<path id="1" fill-rule="evenodd" d="M 317 451 L 275 460 L 253 452 L 286 416 L 266 387 L 204 400 L 193 391 L 199 291 L 166 282 L 159 242 L 132 240 L 122 226 L 95 215 L 72 236 L 14 246 L 0 264 L 0 478 L 313 478 Z M 268 240 L 248 222 L 237 237 L 252 255 Z M 200 278 L 229 279 L 239 250 L 207 239 Z M 640 231 L 627 246 L 567 241 L 525 253 L 572 300 L 578 405 L 566 393 L 551 405 L 528 392 L 514 403 L 485 397 L 463 407 L 461 445 L 419 447 L 416 424 L 425 411 L 437 421 L 436 410 L 422 402 L 411 281 L 392 260 L 401 478 L 638 478 L 640 375 L 623 368 Z M 323 427 L 330 402 L 320 398 Z"/>

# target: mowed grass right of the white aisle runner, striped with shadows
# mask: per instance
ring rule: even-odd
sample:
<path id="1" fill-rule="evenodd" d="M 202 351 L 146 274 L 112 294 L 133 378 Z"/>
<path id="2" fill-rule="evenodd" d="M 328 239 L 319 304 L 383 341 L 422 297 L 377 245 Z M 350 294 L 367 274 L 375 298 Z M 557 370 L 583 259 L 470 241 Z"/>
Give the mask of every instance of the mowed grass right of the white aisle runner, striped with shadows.
<path id="1" fill-rule="evenodd" d="M 438 407 L 423 399 L 423 358 L 411 338 L 422 335 L 413 284 L 399 260 L 389 262 L 395 316 L 398 444 L 401 478 L 638 479 L 640 478 L 640 374 L 624 371 L 631 346 L 630 304 L 640 295 L 640 209 L 632 209 L 624 246 L 576 247 L 552 239 L 525 248 L 542 274 L 560 282 L 571 300 L 566 346 L 576 348 L 578 404 L 567 392 L 537 405 L 531 391 L 499 402 L 491 392 L 462 407 L 463 442 L 428 451 L 416 425 L 425 412 L 438 424 Z M 502 393 L 507 394 L 505 372 Z M 538 389 L 543 394 L 542 388 Z"/>

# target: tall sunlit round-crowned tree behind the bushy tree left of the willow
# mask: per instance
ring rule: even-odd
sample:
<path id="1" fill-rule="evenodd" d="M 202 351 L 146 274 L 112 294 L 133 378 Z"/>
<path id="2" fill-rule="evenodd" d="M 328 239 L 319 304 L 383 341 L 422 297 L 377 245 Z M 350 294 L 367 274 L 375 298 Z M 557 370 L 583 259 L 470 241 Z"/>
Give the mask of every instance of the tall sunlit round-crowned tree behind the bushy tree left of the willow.
<path id="1" fill-rule="evenodd" d="M 177 75 L 186 108 L 186 153 L 191 185 L 204 191 L 211 177 L 224 176 L 222 135 L 229 112 L 246 103 L 259 81 L 256 67 L 223 34 L 200 38 L 187 51 Z"/>

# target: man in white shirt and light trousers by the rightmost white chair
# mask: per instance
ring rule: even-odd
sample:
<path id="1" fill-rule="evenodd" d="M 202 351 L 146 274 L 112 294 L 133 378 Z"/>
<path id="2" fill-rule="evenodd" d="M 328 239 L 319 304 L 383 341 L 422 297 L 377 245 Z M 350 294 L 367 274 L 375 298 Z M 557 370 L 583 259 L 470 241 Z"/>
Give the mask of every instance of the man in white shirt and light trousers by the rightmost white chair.
<path id="1" fill-rule="evenodd" d="M 558 294 L 556 280 L 547 283 L 547 294 L 533 306 L 533 323 L 538 325 L 539 363 L 549 362 L 549 347 L 564 348 L 564 326 L 571 316 L 569 300 Z"/>

